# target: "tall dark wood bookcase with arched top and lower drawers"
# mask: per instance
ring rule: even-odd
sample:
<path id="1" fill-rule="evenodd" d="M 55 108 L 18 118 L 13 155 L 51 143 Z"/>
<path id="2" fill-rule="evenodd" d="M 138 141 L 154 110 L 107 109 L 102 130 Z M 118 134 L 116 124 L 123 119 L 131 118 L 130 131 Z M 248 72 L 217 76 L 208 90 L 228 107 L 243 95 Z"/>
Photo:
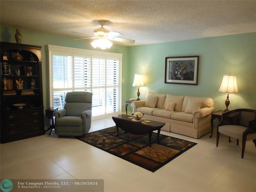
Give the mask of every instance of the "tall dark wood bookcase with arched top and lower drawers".
<path id="1" fill-rule="evenodd" d="M 0 48 L 1 142 L 44 135 L 41 46 L 0 42 Z M 16 85 L 19 79 L 23 81 L 22 89 Z M 13 106 L 20 103 L 26 105 Z"/>

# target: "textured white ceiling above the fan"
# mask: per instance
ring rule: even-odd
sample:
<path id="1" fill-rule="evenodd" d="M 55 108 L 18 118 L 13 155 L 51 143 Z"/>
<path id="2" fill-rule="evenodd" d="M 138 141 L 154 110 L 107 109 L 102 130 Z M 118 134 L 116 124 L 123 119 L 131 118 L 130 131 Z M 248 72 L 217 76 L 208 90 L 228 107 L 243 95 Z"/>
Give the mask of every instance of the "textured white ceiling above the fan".
<path id="1" fill-rule="evenodd" d="M 256 31 L 256 1 L 0 1 L 1 25 L 84 38 L 97 20 L 138 44 Z M 123 44 L 129 45 L 129 44 Z"/>

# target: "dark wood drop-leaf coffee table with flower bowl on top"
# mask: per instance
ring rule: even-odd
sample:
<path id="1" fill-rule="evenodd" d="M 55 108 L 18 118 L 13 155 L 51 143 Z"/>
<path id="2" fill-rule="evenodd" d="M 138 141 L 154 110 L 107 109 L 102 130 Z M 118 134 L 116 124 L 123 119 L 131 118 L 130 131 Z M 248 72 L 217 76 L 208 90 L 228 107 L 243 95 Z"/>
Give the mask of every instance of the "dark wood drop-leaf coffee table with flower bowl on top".
<path id="1" fill-rule="evenodd" d="M 112 119 L 116 123 L 116 129 L 118 135 L 118 128 L 123 129 L 125 132 L 132 133 L 135 135 L 149 135 L 149 147 L 151 147 L 151 137 L 153 131 L 157 130 L 157 142 L 159 143 L 158 137 L 161 131 L 161 128 L 165 125 L 165 123 L 149 120 L 150 123 L 146 123 L 147 119 L 144 119 L 144 122 L 135 122 L 128 117 L 132 117 L 129 115 L 116 115 L 113 116 Z"/>

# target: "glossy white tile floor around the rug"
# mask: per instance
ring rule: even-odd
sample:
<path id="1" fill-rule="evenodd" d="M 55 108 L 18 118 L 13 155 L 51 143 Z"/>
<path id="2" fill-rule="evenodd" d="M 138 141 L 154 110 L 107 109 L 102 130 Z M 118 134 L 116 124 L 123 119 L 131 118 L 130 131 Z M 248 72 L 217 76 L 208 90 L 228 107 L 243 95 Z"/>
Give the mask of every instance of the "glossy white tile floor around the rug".
<path id="1" fill-rule="evenodd" d="M 114 126 L 111 118 L 92 122 L 90 132 Z M 161 131 L 198 143 L 152 173 L 74 138 L 52 133 L 5 143 L 1 149 L 3 179 L 104 179 L 105 192 L 122 191 L 256 191 L 256 149 L 246 142 L 244 159 L 236 140 L 216 129 L 200 139 Z"/>

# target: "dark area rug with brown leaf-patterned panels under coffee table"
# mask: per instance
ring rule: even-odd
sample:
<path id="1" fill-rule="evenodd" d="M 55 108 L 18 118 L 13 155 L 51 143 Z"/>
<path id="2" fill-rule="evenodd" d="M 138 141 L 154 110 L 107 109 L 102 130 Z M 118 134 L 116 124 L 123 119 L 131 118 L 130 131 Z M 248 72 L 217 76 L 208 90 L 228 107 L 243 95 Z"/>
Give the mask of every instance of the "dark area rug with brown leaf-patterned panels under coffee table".
<path id="1" fill-rule="evenodd" d="M 116 136 L 114 126 L 87 133 L 79 140 L 151 172 L 155 172 L 197 144 L 162 134 L 159 135 L 160 143 L 157 143 L 156 138 L 157 133 L 153 132 L 149 147 L 148 134 L 134 135 L 119 129 L 119 134 Z"/>

